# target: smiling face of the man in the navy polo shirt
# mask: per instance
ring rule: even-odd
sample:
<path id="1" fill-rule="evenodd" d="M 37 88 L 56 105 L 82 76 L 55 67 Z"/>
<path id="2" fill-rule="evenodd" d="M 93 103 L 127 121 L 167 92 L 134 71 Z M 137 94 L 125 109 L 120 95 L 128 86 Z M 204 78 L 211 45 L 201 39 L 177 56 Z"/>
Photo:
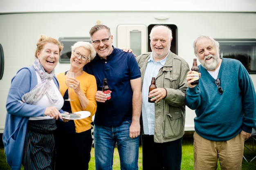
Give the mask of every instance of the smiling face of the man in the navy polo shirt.
<path id="1" fill-rule="evenodd" d="M 96 45 L 92 42 L 92 45 L 94 46 L 95 51 L 101 58 L 105 58 L 110 55 L 113 51 L 112 49 L 112 42 L 113 42 L 113 36 L 110 36 L 110 33 L 107 29 L 100 29 L 92 35 L 91 39 L 92 41 L 95 40 L 103 40 L 109 38 L 108 42 L 106 44 L 103 44 L 102 41 L 100 41 L 99 45 Z"/>

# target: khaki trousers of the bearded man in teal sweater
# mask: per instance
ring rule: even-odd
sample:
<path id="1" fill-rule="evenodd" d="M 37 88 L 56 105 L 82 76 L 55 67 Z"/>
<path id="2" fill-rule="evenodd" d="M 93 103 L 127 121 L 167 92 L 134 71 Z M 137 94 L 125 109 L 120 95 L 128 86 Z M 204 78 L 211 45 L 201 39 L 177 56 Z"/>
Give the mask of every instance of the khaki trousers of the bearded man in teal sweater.
<path id="1" fill-rule="evenodd" d="M 194 170 L 241 170 L 245 138 L 242 133 L 228 141 L 209 141 L 196 132 L 194 137 Z"/>

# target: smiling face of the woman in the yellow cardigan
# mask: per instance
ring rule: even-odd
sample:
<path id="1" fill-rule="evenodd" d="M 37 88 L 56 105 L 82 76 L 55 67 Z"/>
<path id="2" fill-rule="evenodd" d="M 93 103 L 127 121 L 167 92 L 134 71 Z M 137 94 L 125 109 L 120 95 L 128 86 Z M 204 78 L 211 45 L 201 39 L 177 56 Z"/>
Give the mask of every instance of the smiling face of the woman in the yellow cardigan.
<path id="1" fill-rule="evenodd" d="M 81 55 L 79 57 L 74 56 L 74 51 L 76 53 L 80 53 Z M 84 57 L 86 56 L 88 58 L 90 56 L 90 50 L 80 46 L 76 48 L 74 51 L 71 52 L 70 64 L 73 68 L 78 68 L 79 70 L 82 70 L 83 66 L 87 64 L 89 60 L 84 61 L 81 59 L 81 57 L 83 55 Z"/>

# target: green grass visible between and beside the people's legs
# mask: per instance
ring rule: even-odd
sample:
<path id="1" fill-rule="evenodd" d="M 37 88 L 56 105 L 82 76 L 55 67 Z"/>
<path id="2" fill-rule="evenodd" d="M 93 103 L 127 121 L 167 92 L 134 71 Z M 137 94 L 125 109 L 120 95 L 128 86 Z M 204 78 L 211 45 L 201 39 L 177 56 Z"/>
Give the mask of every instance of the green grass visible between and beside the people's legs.
<path id="1" fill-rule="evenodd" d="M 249 148 L 252 148 L 252 139 L 246 141 L 246 145 Z M 244 149 L 244 155 L 246 158 L 251 160 L 256 155 L 256 143 L 254 143 L 254 151 L 250 151 L 247 148 Z M 193 170 L 193 132 L 185 132 L 185 135 L 182 140 L 182 170 Z M 139 147 L 139 161 L 138 161 L 139 170 L 142 170 L 142 149 Z M 7 165 L 4 149 L 0 148 L 0 170 L 10 170 L 11 168 Z M 244 159 L 242 162 L 242 170 L 255 170 L 256 169 L 256 159 L 251 163 L 247 163 Z M 21 168 L 23 170 L 23 167 Z M 89 163 L 89 170 L 95 170 L 95 161 L 94 161 L 94 148 L 91 152 L 91 161 Z M 114 161 L 113 161 L 113 170 L 120 170 L 120 161 L 117 148 L 114 151 Z M 220 164 L 218 163 L 218 168 L 220 169 Z"/>

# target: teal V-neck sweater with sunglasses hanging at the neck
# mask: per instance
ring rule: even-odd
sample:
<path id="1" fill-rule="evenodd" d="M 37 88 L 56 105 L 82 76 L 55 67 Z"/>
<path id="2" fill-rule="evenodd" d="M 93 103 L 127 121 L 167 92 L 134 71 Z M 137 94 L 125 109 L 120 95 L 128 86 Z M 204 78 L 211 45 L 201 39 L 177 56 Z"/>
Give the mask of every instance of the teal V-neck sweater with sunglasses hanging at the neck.
<path id="1" fill-rule="evenodd" d="M 198 86 L 186 90 L 186 105 L 196 113 L 195 131 L 211 141 L 227 141 L 241 130 L 251 133 L 256 127 L 256 94 L 243 64 L 222 58 L 218 73 L 222 94 L 208 71 L 198 67 Z"/>

